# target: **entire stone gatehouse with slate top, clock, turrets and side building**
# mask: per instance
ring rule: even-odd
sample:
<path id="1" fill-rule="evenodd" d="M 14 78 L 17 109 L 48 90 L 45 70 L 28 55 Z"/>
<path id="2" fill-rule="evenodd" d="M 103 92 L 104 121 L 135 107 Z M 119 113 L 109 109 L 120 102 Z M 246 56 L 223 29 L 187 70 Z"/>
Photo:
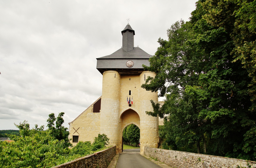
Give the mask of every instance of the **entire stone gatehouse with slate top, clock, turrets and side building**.
<path id="1" fill-rule="evenodd" d="M 158 117 L 148 116 L 153 111 L 150 100 L 158 102 L 157 92 L 146 91 L 141 85 L 154 72 L 144 71 L 151 55 L 134 47 L 135 31 L 128 24 L 123 31 L 122 48 L 111 55 L 97 58 L 97 69 L 102 73 L 102 96 L 80 116 L 69 123 L 69 138 L 93 141 L 97 134 L 106 134 L 109 145 L 122 151 L 122 132 L 129 124 L 140 128 L 141 154 L 144 147 L 157 147 Z M 128 101 L 127 101 L 128 100 Z M 130 102 L 130 103 L 128 103 Z"/>

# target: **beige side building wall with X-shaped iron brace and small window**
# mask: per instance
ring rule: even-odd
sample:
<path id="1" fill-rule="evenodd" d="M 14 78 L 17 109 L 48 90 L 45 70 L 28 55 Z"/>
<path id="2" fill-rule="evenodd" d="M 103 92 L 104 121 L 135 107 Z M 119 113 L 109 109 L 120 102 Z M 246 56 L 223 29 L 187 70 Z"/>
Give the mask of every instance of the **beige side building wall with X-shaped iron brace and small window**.
<path id="1" fill-rule="evenodd" d="M 98 136 L 100 133 L 101 113 L 93 113 L 93 104 L 90 105 L 84 112 L 82 112 L 74 121 L 69 123 L 69 139 L 73 139 L 73 135 L 78 135 L 78 141 L 93 142 L 94 137 Z M 77 132 L 74 129 L 78 129 Z M 73 142 L 73 140 L 70 142 L 73 146 L 77 144 L 76 142 Z"/>

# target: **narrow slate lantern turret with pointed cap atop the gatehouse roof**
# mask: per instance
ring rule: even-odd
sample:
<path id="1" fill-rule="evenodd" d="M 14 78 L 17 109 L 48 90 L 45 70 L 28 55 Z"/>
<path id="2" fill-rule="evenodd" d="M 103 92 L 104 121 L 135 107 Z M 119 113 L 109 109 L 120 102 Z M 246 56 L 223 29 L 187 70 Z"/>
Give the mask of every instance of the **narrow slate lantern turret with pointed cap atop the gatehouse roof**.
<path id="1" fill-rule="evenodd" d="M 123 36 L 123 47 L 122 49 L 124 51 L 130 51 L 134 48 L 134 35 L 135 31 L 132 29 L 132 27 L 129 25 L 129 23 L 126 25 L 126 27 L 121 31 Z"/>

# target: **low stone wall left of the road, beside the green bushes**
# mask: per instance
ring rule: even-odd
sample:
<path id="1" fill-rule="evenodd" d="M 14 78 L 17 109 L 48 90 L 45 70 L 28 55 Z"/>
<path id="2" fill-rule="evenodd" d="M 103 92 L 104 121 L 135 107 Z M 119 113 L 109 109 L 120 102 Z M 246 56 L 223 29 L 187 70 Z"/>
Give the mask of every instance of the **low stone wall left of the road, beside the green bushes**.
<path id="1" fill-rule="evenodd" d="M 116 155 L 116 146 L 52 168 L 107 168 Z"/>

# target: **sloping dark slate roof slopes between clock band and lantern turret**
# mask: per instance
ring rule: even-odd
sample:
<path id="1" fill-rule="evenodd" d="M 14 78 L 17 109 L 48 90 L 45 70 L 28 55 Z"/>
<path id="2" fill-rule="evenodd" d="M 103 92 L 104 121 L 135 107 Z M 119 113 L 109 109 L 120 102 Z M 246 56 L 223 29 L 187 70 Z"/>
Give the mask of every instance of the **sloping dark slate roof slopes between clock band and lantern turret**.
<path id="1" fill-rule="evenodd" d="M 147 52 L 143 51 L 139 47 L 134 47 L 133 50 L 130 50 L 128 52 L 124 51 L 122 48 L 114 52 L 113 54 L 96 58 L 96 59 L 145 59 L 150 58 L 152 55 L 149 55 Z"/>

